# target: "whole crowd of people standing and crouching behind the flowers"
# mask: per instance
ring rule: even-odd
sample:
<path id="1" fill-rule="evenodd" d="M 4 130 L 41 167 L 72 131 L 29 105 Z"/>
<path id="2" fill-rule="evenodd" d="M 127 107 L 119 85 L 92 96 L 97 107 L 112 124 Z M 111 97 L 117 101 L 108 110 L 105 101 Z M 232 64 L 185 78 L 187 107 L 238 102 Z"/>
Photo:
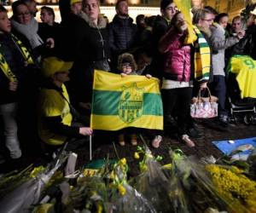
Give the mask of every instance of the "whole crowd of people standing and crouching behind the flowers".
<path id="1" fill-rule="evenodd" d="M 23 141 L 38 139 L 45 152 L 55 152 L 67 141 L 73 149 L 89 140 L 95 69 L 159 78 L 164 131 L 189 147 L 203 134 L 190 116 L 190 101 L 199 90 L 208 87 L 218 97 L 217 124 L 229 127 L 225 67 L 232 55 L 256 59 L 256 7 L 247 20 L 236 16 L 231 24 L 228 14 L 193 8 L 189 25 L 172 0 L 160 1 L 160 15 L 139 14 L 136 24 L 125 0 L 117 1 L 111 22 L 98 0 L 59 4 L 61 23 L 46 6 L 38 23 L 34 0 L 12 3 L 10 18 L 0 5 L 1 146 L 9 158 L 20 158 Z M 127 132 L 136 146 L 134 129 L 117 132 L 119 145 L 125 145 Z M 163 134 L 154 131 L 153 147 L 160 146 Z"/>

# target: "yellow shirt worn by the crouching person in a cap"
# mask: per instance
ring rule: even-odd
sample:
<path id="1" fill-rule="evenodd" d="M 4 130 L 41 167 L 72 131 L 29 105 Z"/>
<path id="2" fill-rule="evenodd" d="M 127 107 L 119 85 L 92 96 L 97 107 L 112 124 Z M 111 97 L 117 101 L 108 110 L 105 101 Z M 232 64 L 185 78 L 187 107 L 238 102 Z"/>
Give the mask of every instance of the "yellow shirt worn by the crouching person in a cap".
<path id="1" fill-rule="evenodd" d="M 67 89 L 62 84 L 63 95 L 69 101 Z M 61 116 L 61 123 L 71 126 L 72 114 L 70 113 L 69 104 L 55 89 L 42 89 L 40 91 L 39 101 L 39 121 L 38 131 L 41 140 L 50 145 L 61 145 L 67 140 L 67 136 L 57 135 L 51 132 L 44 124 L 45 117 Z"/>

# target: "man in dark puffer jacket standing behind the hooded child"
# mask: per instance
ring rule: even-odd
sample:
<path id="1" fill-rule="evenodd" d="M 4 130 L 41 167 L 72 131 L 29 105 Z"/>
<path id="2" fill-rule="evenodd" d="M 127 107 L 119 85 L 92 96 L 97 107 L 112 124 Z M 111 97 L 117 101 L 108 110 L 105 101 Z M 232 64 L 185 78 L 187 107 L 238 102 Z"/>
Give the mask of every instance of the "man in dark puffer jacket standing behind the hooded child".
<path id="1" fill-rule="evenodd" d="M 117 66 L 118 56 L 133 48 L 137 26 L 128 14 L 128 3 L 119 0 L 115 5 L 116 14 L 109 24 L 109 46 L 113 56 L 113 67 Z"/>

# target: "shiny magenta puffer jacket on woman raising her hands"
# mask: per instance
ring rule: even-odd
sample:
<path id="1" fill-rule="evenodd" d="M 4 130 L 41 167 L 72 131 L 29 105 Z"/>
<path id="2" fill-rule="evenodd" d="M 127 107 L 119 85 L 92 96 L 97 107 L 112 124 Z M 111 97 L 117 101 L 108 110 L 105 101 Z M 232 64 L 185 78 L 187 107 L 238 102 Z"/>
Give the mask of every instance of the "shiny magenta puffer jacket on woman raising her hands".
<path id="1" fill-rule="evenodd" d="M 183 34 L 172 27 L 160 39 L 159 50 L 164 54 L 164 78 L 189 82 L 191 70 L 191 47 L 183 44 Z"/>

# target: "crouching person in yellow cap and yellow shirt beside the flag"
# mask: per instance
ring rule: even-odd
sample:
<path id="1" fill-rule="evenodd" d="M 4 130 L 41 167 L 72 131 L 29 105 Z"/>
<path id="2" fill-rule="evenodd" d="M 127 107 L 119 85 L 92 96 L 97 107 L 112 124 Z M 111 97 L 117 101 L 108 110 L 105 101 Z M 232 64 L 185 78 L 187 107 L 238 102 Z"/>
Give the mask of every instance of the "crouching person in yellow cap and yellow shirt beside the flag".
<path id="1" fill-rule="evenodd" d="M 72 66 L 73 62 L 56 57 L 44 58 L 42 62 L 41 73 L 45 82 L 38 95 L 38 134 L 49 152 L 66 142 L 72 149 L 79 139 L 80 142 L 88 141 L 84 136 L 92 134 L 89 127 L 73 125 L 75 114 L 64 84 L 69 80 Z"/>

